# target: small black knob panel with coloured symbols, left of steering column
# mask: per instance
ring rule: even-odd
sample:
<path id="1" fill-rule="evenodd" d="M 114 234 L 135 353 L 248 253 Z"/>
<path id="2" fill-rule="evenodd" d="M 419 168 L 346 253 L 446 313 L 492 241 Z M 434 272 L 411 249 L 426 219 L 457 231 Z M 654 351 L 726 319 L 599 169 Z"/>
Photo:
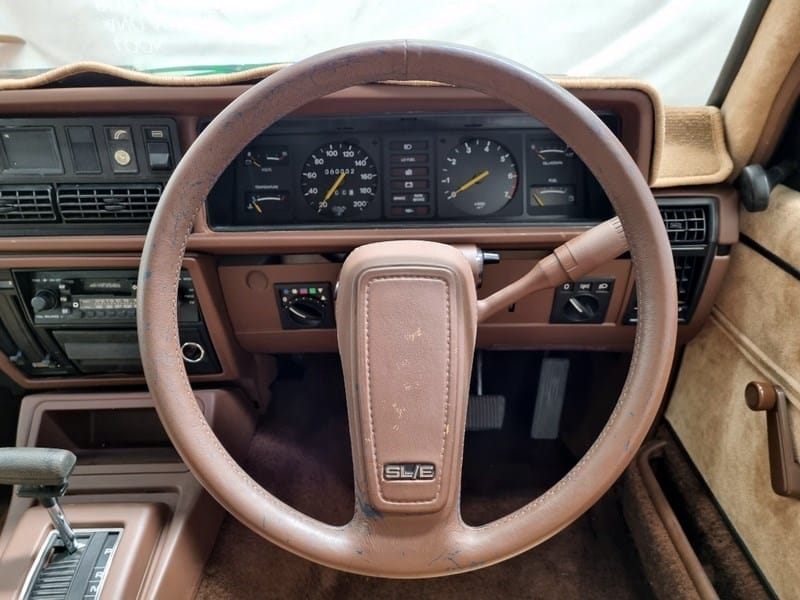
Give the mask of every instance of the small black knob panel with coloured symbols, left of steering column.
<path id="1" fill-rule="evenodd" d="M 284 329 L 334 327 L 330 283 L 278 283 L 275 295 Z"/>

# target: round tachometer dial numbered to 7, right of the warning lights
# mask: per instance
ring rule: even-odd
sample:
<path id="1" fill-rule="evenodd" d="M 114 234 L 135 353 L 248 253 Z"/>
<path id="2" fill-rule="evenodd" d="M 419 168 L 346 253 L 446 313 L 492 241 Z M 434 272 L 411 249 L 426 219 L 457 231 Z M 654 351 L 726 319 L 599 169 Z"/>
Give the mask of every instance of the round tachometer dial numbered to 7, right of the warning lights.
<path id="1" fill-rule="evenodd" d="M 439 169 L 444 204 L 469 215 L 490 215 L 506 206 L 517 191 L 519 172 L 511 152 L 488 138 L 460 142 Z"/>

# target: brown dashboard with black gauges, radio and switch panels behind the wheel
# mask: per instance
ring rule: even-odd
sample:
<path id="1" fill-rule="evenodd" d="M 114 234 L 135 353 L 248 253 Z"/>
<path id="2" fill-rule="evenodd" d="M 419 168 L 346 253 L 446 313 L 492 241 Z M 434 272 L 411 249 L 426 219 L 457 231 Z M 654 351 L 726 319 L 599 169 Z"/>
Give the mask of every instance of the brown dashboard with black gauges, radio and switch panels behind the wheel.
<path id="1" fill-rule="evenodd" d="M 141 384 L 138 259 L 158 199 L 210 118 L 247 86 L 8 91 L 0 97 L 0 370 L 26 389 Z M 649 178 L 651 99 L 576 93 Z M 69 107 L 68 110 L 65 107 Z M 680 340 L 699 331 L 736 242 L 728 186 L 656 190 L 675 261 Z M 541 123 L 457 88 L 370 85 L 304 106 L 252 140 L 194 223 L 178 287 L 194 382 L 257 380 L 260 357 L 335 352 L 333 297 L 358 245 L 478 248 L 479 297 L 613 214 Z M 622 256 L 524 298 L 478 347 L 629 350 L 638 306 Z M 254 392 L 256 395 L 259 392 Z"/>

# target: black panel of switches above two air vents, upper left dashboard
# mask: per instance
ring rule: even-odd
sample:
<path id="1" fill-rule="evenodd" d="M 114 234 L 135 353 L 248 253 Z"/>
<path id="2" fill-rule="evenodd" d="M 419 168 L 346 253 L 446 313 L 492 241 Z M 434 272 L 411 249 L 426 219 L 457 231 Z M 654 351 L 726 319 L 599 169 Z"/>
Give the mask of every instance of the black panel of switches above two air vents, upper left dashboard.
<path id="1" fill-rule="evenodd" d="M 0 237 L 144 234 L 179 159 L 168 117 L 0 118 Z"/>

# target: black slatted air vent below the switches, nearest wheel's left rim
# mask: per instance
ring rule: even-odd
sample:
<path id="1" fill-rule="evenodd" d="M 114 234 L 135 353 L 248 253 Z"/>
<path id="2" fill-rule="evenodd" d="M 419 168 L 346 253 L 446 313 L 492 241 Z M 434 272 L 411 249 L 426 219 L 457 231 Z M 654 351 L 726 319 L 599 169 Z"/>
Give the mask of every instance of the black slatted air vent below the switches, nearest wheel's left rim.
<path id="1" fill-rule="evenodd" d="M 161 197 L 161 185 L 61 185 L 57 197 L 66 223 L 146 223 Z"/>

